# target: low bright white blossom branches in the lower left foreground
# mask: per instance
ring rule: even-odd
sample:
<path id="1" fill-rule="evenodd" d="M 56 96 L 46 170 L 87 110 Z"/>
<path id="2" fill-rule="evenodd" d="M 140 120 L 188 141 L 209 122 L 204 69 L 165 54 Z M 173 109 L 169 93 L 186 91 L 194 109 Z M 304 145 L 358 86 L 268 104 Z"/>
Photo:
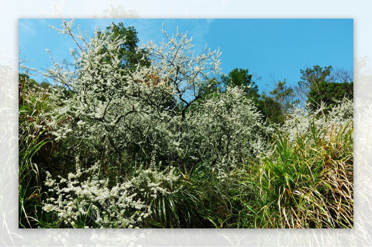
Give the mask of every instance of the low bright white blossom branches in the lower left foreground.
<path id="1" fill-rule="evenodd" d="M 56 198 L 48 198 L 43 210 L 57 213 L 60 222 L 74 228 L 87 227 L 89 220 L 100 228 L 134 228 L 151 214 L 147 197 L 176 192 L 173 184 L 180 178 L 174 167 L 168 171 L 154 167 L 138 170 L 131 180 L 109 188 L 108 179 L 99 179 L 98 171 L 98 164 L 83 170 L 77 161 L 76 174 L 67 179 L 58 177 L 57 182 L 48 173 L 45 184 Z"/>

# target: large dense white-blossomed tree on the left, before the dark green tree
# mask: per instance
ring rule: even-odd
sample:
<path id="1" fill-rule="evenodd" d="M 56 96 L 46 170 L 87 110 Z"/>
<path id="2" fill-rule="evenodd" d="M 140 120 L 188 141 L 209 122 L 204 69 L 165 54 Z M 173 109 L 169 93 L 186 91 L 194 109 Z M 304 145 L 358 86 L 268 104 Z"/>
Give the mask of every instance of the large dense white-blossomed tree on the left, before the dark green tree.
<path id="1" fill-rule="evenodd" d="M 121 166 L 129 146 L 145 142 L 151 116 L 170 101 L 164 90 L 166 82 L 156 76 L 153 66 L 138 65 L 133 73 L 123 73 L 119 50 L 125 40 L 98 30 L 94 37 L 85 38 L 81 32 L 71 33 L 72 23 L 64 21 L 63 29 L 57 30 L 70 34 L 76 42 L 82 40 L 82 44 L 77 42 L 81 49 L 75 61 L 77 70 L 70 72 L 54 63 L 46 74 L 63 85 L 57 88 L 60 92 L 55 92 L 62 105 L 56 115 L 65 114 L 71 119 L 55 126 L 54 134 L 57 140 L 69 136 L 83 139 L 101 157 L 113 152 L 116 165 Z"/>

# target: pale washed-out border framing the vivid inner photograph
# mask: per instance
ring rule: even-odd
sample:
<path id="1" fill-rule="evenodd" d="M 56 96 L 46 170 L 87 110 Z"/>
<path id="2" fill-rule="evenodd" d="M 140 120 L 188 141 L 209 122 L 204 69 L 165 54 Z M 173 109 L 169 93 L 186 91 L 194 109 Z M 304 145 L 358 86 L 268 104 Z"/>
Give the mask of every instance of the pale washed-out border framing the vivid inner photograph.
<path id="1" fill-rule="evenodd" d="M 371 3 L 15 1 L 1 6 L 1 246 L 371 246 Z M 371 4 L 372 5 L 372 4 Z M 354 229 L 18 229 L 18 18 L 354 18 Z"/>

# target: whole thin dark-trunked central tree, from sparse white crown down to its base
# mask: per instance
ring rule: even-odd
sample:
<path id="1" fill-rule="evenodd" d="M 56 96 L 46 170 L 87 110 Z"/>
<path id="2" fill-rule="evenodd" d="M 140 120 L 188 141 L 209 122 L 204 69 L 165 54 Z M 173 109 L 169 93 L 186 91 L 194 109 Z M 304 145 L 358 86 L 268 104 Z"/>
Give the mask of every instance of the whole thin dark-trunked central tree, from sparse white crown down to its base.
<path id="1" fill-rule="evenodd" d="M 202 99 L 199 89 L 205 86 L 208 76 L 217 76 L 221 68 L 219 50 L 207 50 L 207 46 L 199 55 L 195 55 L 192 45 L 192 37 L 177 33 L 169 36 L 162 30 L 166 37 L 165 42 L 157 45 L 154 41 L 147 42 L 144 49 L 150 54 L 153 66 L 162 80 L 167 81 L 169 92 L 176 101 L 176 107 L 164 109 L 170 115 L 163 116 L 166 121 L 160 122 L 157 129 L 160 139 L 165 142 L 157 143 L 161 146 L 163 155 L 171 156 L 183 166 L 185 173 L 189 172 L 188 162 L 199 160 L 195 157 L 198 149 L 193 142 L 192 125 L 187 120 L 187 112 L 190 107 Z M 201 154 L 200 152 L 198 153 Z M 194 156 L 193 156 L 194 155 Z"/>

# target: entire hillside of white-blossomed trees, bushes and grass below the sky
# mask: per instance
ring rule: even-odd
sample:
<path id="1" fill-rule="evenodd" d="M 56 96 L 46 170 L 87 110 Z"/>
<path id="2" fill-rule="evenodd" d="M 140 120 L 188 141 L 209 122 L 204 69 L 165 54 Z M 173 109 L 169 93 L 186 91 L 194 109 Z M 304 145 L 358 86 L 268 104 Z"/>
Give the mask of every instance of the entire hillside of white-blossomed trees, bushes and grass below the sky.
<path id="1" fill-rule="evenodd" d="M 57 31 L 75 70 L 19 74 L 20 227 L 353 227 L 350 73 L 309 67 L 259 93 L 186 34 L 138 46 L 122 23 L 72 25 Z"/>

